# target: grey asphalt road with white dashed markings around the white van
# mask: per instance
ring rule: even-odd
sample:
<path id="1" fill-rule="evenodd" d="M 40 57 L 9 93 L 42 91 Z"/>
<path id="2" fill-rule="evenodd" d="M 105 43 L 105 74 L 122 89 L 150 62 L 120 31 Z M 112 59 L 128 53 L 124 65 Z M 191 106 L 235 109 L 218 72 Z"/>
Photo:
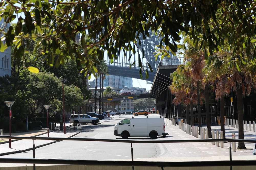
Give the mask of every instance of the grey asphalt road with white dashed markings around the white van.
<path id="1" fill-rule="evenodd" d="M 114 136 L 114 125 L 128 116 L 131 115 L 116 116 L 115 119 L 97 125 L 84 125 L 81 133 L 74 137 L 122 140 L 122 137 Z M 129 137 L 128 139 L 150 140 L 150 137 Z M 134 159 L 157 158 L 167 152 L 163 143 L 130 144 L 98 141 L 59 141 L 37 148 L 35 158 L 71 160 L 132 159 L 131 147 L 133 148 Z M 33 151 L 4 155 L 0 158 L 33 158 Z"/>

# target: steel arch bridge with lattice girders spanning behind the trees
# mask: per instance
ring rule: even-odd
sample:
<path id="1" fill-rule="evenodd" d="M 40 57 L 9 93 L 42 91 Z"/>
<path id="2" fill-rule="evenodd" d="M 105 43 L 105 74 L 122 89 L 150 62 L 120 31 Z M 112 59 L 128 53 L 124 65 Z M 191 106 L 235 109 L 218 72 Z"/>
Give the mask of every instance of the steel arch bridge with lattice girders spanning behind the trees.
<path id="1" fill-rule="evenodd" d="M 141 35 L 142 37 L 142 35 Z M 142 38 L 141 38 L 142 39 Z M 137 44 L 138 51 L 133 54 L 131 51 L 128 51 L 124 54 L 123 50 L 121 50 L 118 59 L 114 60 L 113 63 L 110 62 L 110 59 L 107 59 L 108 71 L 110 75 L 123 76 L 123 77 L 131 77 L 135 79 L 141 79 L 138 67 L 138 57 L 142 56 L 142 51 L 144 50 L 145 58 L 141 58 L 141 62 L 143 64 L 144 69 L 142 70 L 143 78 L 141 80 L 146 80 L 147 83 L 152 83 L 154 80 L 154 76 L 156 74 L 158 65 L 161 61 L 161 57 L 155 56 L 156 45 L 160 44 L 158 36 L 152 34 L 151 37 L 147 37 L 143 41 L 141 41 L 141 46 Z M 163 43 L 164 45 L 164 43 Z M 143 50 L 142 50 L 143 49 Z M 173 56 L 172 53 L 169 54 L 170 58 L 165 58 L 168 60 L 173 60 L 173 63 L 181 63 L 176 56 Z M 129 56 L 132 56 L 129 60 Z M 133 64 L 135 63 L 135 64 Z M 148 64 L 152 67 L 153 72 L 150 71 Z M 130 64 L 131 68 L 130 68 Z M 145 71 L 148 70 L 149 77 L 146 79 Z"/>

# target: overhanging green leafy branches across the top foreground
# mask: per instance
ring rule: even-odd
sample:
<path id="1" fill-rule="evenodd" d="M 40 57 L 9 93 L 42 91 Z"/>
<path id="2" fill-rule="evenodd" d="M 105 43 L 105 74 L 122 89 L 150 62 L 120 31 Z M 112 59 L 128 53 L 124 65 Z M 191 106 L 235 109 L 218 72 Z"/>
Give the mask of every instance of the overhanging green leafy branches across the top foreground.
<path id="1" fill-rule="evenodd" d="M 21 40 L 32 38 L 34 53 L 39 52 L 34 60 L 42 55 L 42 61 L 58 67 L 72 59 L 81 72 L 91 75 L 97 73 L 96 58 L 102 60 L 105 51 L 111 62 L 121 50 L 135 53 L 140 46 L 139 35 L 145 39 L 152 31 L 161 39 L 156 56 L 168 56 L 169 51 L 176 55 L 176 43 L 186 34 L 206 58 L 232 46 L 230 59 L 240 70 L 242 64 L 255 62 L 255 6 L 255 0 L 2 0 L 0 19 L 6 24 L 1 27 L 4 35 L 0 51 L 15 45 L 15 57 L 24 58 Z M 7 27 L 10 22 L 16 22 L 15 29 Z M 80 37 L 76 37 L 78 33 Z M 246 61 L 244 56 L 251 48 L 253 58 Z M 143 70 L 142 55 L 136 64 Z"/>

